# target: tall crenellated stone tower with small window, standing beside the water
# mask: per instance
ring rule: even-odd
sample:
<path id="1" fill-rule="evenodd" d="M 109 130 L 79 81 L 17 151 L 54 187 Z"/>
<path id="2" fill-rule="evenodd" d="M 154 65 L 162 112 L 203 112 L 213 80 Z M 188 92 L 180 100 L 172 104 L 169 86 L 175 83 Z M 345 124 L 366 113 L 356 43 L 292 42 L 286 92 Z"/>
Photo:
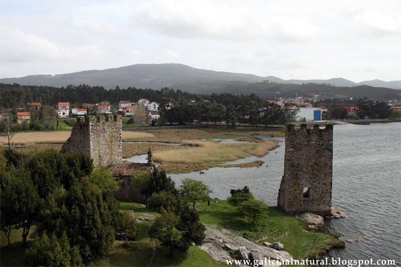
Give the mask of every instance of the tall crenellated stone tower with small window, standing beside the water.
<path id="1" fill-rule="evenodd" d="M 331 212 L 333 125 L 286 125 L 284 175 L 277 205 L 289 213 Z"/>

